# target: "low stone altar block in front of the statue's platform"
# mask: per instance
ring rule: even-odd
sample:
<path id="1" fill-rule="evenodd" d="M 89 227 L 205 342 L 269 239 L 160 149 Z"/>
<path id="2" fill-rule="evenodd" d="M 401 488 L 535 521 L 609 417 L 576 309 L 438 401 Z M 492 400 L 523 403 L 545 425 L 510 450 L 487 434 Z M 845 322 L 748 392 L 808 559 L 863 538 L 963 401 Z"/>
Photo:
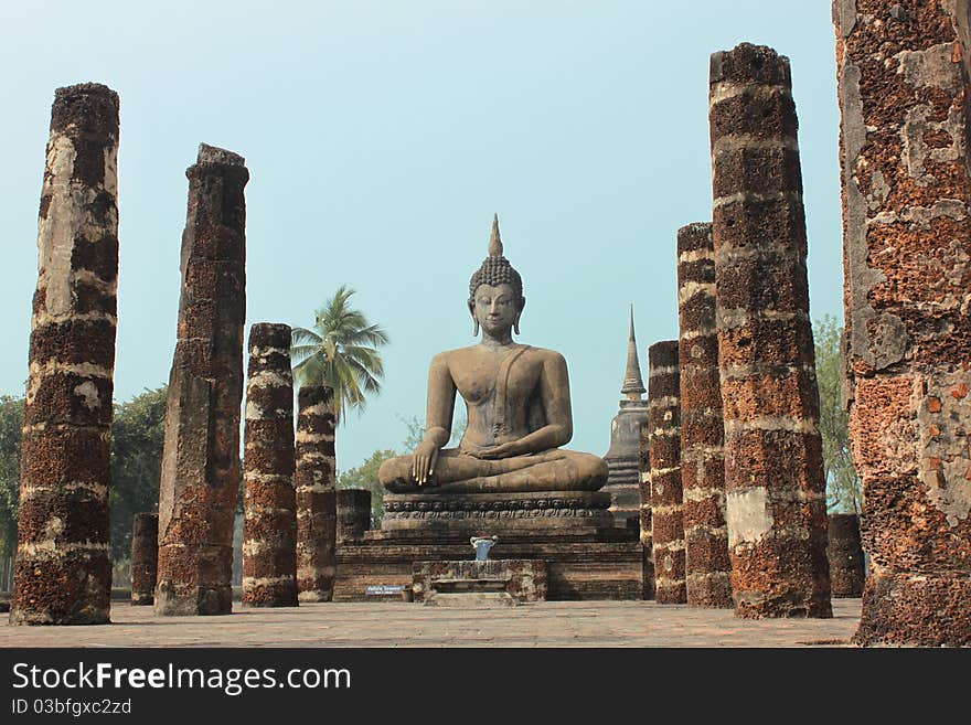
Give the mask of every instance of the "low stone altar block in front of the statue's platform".
<path id="1" fill-rule="evenodd" d="M 542 559 L 415 562 L 412 591 L 433 607 L 515 606 L 545 600 L 546 575 Z"/>

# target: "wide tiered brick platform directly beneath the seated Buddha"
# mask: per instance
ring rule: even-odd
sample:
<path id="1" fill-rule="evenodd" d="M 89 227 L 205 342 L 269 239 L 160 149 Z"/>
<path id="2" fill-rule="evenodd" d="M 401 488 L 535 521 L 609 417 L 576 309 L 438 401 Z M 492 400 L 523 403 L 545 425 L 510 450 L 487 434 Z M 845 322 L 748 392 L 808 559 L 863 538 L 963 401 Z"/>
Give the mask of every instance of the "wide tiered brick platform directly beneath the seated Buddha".
<path id="1" fill-rule="evenodd" d="M 547 599 L 641 599 L 638 532 L 618 526 L 609 507 L 601 491 L 388 494 L 381 530 L 338 542 L 334 600 L 373 598 L 369 586 L 410 586 L 416 562 L 472 559 L 469 537 L 492 535 L 494 558 L 547 563 Z"/>

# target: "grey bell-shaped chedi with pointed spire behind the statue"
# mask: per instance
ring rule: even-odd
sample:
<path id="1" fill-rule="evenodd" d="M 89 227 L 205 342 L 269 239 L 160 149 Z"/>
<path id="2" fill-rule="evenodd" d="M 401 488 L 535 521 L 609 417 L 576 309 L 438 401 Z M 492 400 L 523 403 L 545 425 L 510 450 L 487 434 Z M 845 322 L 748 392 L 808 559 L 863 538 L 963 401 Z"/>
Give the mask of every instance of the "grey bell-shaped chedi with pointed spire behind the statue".
<path id="1" fill-rule="evenodd" d="M 627 369 L 620 394 L 620 411 L 610 424 L 610 448 L 604 455 L 607 462 L 607 484 L 604 490 L 610 493 L 610 512 L 617 523 L 627 525 L 628 520 L 638 519 L 640 493 L 638 492 L 638 462 L 640 447 L 640 426 L 648 419 L 648 403 L 643 399 L 643 377 L 637 353 L 637 338 L 633 332 L 633 305 L 630 308 L 630 332 L 627 341 Z"/>

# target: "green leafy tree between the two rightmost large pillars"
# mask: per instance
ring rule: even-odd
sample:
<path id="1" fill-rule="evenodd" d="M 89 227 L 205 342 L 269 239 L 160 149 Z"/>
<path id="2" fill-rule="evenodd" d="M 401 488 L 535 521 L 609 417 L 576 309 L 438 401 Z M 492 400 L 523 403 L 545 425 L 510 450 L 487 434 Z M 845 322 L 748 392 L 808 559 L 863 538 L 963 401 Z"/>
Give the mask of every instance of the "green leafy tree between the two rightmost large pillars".
<path id="1" fill-rule="evenodd" d="M 842 326 L 830 314 L 813 326 L 815 375 L 820 393 L 820 433 L 826 503 L 832 511 L 857 513 L 863 503 L 860 477 L 850 455 L 850 420 L 843 409 L 843 363 L 840 353 Z"/>

